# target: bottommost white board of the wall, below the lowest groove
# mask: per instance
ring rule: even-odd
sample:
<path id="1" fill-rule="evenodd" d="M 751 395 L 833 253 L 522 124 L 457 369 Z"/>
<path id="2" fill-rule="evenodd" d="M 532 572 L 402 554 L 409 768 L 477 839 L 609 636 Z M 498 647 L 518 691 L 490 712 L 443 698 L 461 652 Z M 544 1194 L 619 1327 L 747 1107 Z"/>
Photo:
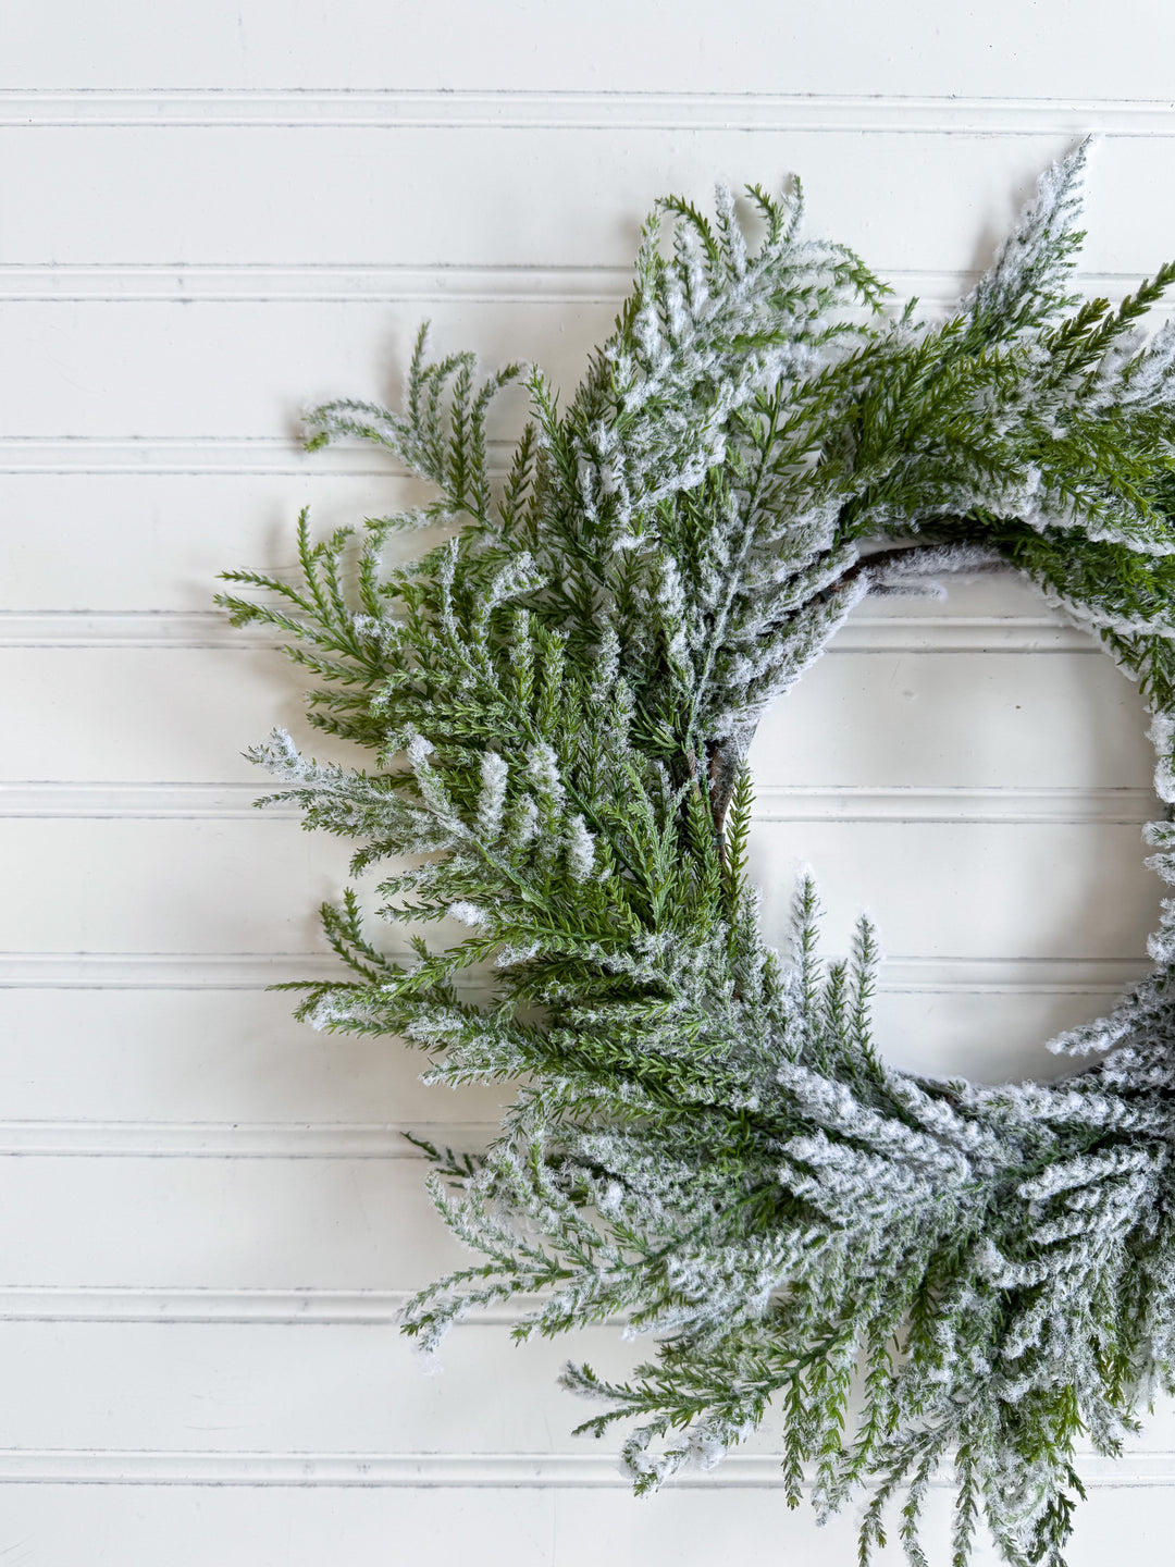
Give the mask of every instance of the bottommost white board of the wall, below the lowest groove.
<path id="1" fill-rule="evenodd" d="M 523 1476 L 531 1470 L 519 1467 Z M 523 1481 L 511 1489 L 425 1481 L 417 1487 L 360 1486 L 348 1492 L 312 1484 L 251 1490 L 222 1484 L 42 1484 L 13 1486 L 9 1492 L 11 1534 L 36 1540 L 44 1561 L 75 1561 L 83 1539 L 89 1559 L 128 1567 L 154 1567 L 160 1542 L 166 1543 L 169 1567 L 207 1567 L 213 1559 L 218 1567 L 320 1567 L 324 1561 L 414 1556 L 446 1564 L 476 1559 L 483 1567 L 515 1567 L 519 1561 L 559 1567 L 598 1567 L 600 1561 L 772 1562 L 783 1554 L 782 1539 L 796 1529 L 793 1517 L 780 1523 L 771 1495 L 754 1482 L 718 1490 L 708 1479 L 641 1503 L 616 1486 L 583 1481 Z M 934 1492 L 927 1501 L 932 1562 L 948 1559 L 949 1507 L 945 1492 Z M 1170 1492 L 1150 1486 L 1131 1490 L 1128 1507 L 1131 1554 L 1164 1561 L 1175 1528 Z M 1070 1564 L 1104 1567 L 1104 1542 L 1122 1534 L 1122 1492 L 1090 1487 L 1084 1514 L 1087 1526 L 1070 1550 Z M 852 1562 L 854 1529 L 846 1515 L 819 1534 L 813 1531 L 808 1559 Z M 218 1542 L 215 1558 L 207 1553 L 208 1540 Z M 899 1567 L 904 1556 L 895 1543 L 876 1559 L 879 1567 Z"/>

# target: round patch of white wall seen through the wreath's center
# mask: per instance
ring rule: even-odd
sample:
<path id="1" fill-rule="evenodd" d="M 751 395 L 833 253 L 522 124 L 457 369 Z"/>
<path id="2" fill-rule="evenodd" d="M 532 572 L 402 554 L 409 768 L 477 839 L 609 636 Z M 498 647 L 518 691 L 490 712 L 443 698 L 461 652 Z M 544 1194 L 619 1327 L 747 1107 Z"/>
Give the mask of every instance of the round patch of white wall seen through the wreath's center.
<path id="1" fill-rule="evenodd" d="M 865 909 L 877 1047 L 906 1070 L 1059 1078 L 1047 1042 L 1150 968 L 1159 813 L 1142 697 L 1010 569 L 865 599 L 765 716 L 752 879 L 783 946 L 810 867 L 829 953 Z"/>

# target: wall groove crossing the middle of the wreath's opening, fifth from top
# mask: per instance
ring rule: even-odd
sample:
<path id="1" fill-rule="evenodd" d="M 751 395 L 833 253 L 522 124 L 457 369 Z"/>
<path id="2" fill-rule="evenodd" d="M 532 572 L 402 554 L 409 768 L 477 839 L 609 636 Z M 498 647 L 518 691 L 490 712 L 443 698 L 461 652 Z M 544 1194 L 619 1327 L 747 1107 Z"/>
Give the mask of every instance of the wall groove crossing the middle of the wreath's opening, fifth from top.
<path id="1" fill-rule="evenodd" d="M 240 820 L 255 813 L 257 784 L 0 782 L 0 820 Z M 771 787 L 755 791 L 757 821 L 909 821 L 1040 824 L 1141 824 L 1159 813 L 1148 788 L 918 788 L 874 785 Z M 296 805 L 265 807 L 268 818 L 298 820 Z"/>

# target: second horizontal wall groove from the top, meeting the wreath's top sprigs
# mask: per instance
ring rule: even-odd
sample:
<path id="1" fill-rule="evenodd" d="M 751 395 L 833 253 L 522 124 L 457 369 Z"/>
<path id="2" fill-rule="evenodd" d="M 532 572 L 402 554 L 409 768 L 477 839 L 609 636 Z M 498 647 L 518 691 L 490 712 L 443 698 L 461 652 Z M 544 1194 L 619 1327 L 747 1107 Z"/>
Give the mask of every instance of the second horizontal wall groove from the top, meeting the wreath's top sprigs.
<path id="1" fill-rule="evenodd" d="M 976 271 L 882 268 L 896 302 L 954 304 Z M 1133 273 L 1075 273 L 1083 293 L 1120 298 Z M 9 304 L 619 304 L 630 266 L 349 265 L 349 263 L 0 263 L 0 301 Z M 1158 312 L 1173 309 L 1159 304 Z"/>

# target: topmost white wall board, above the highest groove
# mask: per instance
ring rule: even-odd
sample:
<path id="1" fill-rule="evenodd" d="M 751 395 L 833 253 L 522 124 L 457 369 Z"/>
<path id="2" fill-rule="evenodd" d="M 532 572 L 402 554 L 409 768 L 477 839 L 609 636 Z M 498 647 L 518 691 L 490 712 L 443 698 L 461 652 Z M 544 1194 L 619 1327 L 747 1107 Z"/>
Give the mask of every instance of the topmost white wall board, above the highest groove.
<path id="1" fill-rule="evenodd" d="M 572 16 L 558 0 L 522 0 L 492 22 L 462 0 L 425 14 L 357 0 L 215 0 L 199 17 L 127 0 L 111 16 L 63 14 L 28 6 L 6 20 L 6 86 L 1000 94 L 1040 113 L 1042 99 L 1164 99 L 1170 85 L 1156 0 L 1123 0 L 1111 16 L 992 0 L 949 19 L 935 0 L 719 13 L 682 0 L 672 16 L 627 0 Z"/>

